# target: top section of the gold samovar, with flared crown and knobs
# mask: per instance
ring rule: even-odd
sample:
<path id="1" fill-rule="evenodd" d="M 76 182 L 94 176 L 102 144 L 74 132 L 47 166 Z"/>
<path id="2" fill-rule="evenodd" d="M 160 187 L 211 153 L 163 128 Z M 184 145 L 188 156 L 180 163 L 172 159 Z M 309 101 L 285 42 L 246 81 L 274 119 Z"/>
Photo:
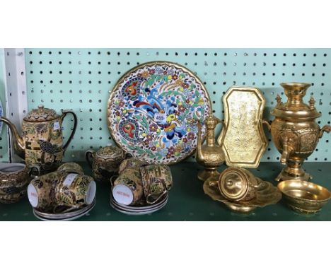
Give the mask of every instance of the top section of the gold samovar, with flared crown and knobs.
<path id="1" fill-rule="evenodd" d="M 310 95 L 309 105 L 303 102 L 306 90 L 310 83 L 281 83 L 288 100 L 281 102 L 277 95 L 277 105 L 271 114 L 275 117 L 295 119 L 315 119 L 320 117 L 320 112 L 315 108 L 315 99 Z"/>

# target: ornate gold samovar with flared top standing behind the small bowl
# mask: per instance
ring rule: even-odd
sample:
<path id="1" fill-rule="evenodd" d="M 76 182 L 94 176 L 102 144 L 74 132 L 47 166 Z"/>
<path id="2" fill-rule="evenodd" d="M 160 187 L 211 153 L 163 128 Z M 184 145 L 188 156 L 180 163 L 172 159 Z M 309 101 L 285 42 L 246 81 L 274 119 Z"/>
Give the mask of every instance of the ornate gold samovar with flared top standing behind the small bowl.
<path id="1" fill-rule="evenodd" d="M 271 124 L 272 140 L 281 153 L 280 162 L 286 164 L 276 178 L 280 180 L 309 180 L 311 175 L 302 168 L 305 158 L 313 153 L 324 131 L 331 131 L 330 125 L 322 129 L 315 122 L 320 112 L 315 109 L 315 100 L 310 96 L 309 105 L 303 102 L 309 83 L 281 83 L 288 100 L 281 102 L 277 95 L 277 105 L 271 114 L 275 119 Z"/>

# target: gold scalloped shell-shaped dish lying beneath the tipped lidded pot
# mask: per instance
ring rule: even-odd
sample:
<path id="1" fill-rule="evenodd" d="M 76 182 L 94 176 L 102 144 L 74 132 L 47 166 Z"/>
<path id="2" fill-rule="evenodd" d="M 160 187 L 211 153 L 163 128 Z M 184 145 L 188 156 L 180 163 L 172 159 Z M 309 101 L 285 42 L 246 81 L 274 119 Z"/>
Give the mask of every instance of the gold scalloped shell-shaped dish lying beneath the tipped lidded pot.
<path id="1" fill-rule="evenodd" d="M 210 177 L 204 182 L 204 193 L 214 201 L 221 201 L 229 209 L 239 213 L 249 213 L 257 207 L 265 207 L 271 204 L 277 204 L 281 199 L 281 192 L 271 183 L 256 178 L 259 187 L 256 189 L 256 196 L 249 201 L 231 201 L 226 199 L 220 192 L 219 187 L 214 184 L 216 177 Z"/>

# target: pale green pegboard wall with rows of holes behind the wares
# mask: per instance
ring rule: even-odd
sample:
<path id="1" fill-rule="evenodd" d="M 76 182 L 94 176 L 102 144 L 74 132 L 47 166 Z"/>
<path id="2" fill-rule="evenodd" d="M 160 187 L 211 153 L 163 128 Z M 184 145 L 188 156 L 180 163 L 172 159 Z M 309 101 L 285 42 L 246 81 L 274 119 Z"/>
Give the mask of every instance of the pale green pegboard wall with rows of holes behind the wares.
<path id="1" fill-rule="evenodd" d="M 286 98 L 279 83 L 298 81 L 312 83 L 305 100 L 314 94 L 323 115 L 319 124 L 330 124 L 331 49 L 25 49 L 28 109 L 44 104 L 58 112 L 74 110 L 79 123 L 65 160 L 83 160 L 88 148 L 113 143 L 106 119 L 108 91 L 128 69 L 156 60 L 175 61 L 196 73 L 219 118 L 221 97 L 230 86 L 260 88 L 267 100 L 265 118 L 272 119 L 269 112 L 277 94 Z M 65 140 L 70 120 L 64 124 Z M 308 160 L 330 161 L 329 140 L 325 134 Z M 262 161 L 278 160 L 277 149 L 269 143 Z"/>

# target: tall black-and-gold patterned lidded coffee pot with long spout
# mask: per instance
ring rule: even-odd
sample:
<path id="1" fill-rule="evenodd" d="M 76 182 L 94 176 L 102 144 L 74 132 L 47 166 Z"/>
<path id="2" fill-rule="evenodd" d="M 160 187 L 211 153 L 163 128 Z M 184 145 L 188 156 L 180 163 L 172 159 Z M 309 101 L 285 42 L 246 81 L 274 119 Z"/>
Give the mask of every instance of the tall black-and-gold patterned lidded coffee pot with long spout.
<path id="1" fill-rule="evenodd" d="M 62 122 L 69 113 L 74 117 L 74 128 L 64 144 Z M 55 110 L 40 105 L 23 118 L 22 136 L 6 117 L 0 117 L 0 122 L 8 124 L 11 129 L 16 153 L 25 159 L 29 167 L 38 165 L 45 172 L 56 169 L 62 162 L 64 151 L 76 131 L 77 117 L 71 110 L 62 110 L 62 115 L 57 115 Z"/>

